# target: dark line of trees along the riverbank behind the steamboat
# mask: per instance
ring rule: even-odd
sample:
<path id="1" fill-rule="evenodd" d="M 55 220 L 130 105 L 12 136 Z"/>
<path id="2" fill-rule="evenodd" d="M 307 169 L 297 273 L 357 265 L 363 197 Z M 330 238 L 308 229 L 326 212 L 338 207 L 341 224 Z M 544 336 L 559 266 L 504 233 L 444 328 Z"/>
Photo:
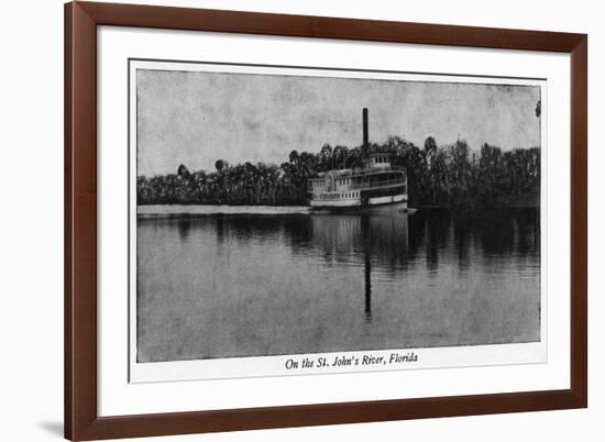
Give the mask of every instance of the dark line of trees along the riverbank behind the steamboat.
<path id="1" fill-rule="evenodd" d="M 369 153 L 374 152 L 391 153 L 392 164 L 407 169 L 410 207 L 539 205 L 539 147 L 504 152 L 485 143 L 474 151 L 464 140 L 438 146 L 432 136 L 419 147 L 392 136 L 370 144 Z M 139 205 L 306 205 L 309 178 L 362 164 L 361 146 L 324 144 L 317 154 L 292 151 L 280 165 L 231 166 L 219 159 L 213 172 L 190 172 L 180 165 L 176 174 L 139 176 L 136 198 Z"/>

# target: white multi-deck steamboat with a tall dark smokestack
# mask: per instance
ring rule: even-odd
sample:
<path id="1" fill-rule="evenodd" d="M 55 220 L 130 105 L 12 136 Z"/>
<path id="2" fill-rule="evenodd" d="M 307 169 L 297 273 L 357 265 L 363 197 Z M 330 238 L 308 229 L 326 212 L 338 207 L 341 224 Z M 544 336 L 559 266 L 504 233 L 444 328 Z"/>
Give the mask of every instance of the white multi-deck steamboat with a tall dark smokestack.
<path id="1" fill-rule="evenodd" d="M 363 167 L 322 172 L 309 179 L 312 211 L 407 210 L 407 174 L 389 153 L 369 154 L 367 109 L 363 109 Z"/>

